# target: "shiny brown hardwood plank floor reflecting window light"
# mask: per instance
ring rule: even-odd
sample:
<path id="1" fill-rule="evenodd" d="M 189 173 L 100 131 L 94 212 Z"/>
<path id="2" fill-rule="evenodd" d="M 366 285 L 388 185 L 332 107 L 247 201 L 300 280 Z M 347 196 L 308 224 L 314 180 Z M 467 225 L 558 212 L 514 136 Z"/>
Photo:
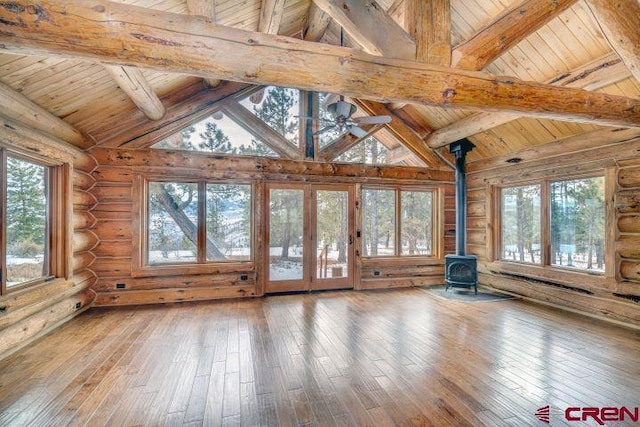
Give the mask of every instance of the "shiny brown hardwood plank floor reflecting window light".
<path id="1" fill-rule="evenodd" d="M 344 291 L 91 309 L 0 361 L 0 425 L 540 426 L 545 405 L 579 425 L 567 407 L 635 407 L 639 390 L 638 331 Z"/>

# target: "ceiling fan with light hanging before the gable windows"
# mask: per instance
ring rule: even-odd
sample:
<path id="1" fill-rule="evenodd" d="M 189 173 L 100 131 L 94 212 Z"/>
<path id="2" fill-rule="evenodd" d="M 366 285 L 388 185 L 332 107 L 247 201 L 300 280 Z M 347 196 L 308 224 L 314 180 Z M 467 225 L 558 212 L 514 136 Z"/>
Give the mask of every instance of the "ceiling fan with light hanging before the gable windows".
<path id="1" fill-rule="evenodd" d="M 366 116 L 366 117 L 351 117 L 355 113 L 357 107 L 355 104 L 344 100 L 343 96 L 336 102 L 332 102 L 327 105 L 327 112 L 331 115 L 331 119 L 325 119 L 323 117 L 300 117 L 303 119 L 317 120 L 324 122 L 325 126 L 320 130 L 313 133 L 313 135 L 320 135 L 331 129 L 339 129 L 340 136 L 345 133 L 350 133 L 357 138 L 363 138 L 367 136 L 368 131 L 362 129 L 359 125 L 377 125 L 384 123 L 391 123 L 390 116 Z"/>

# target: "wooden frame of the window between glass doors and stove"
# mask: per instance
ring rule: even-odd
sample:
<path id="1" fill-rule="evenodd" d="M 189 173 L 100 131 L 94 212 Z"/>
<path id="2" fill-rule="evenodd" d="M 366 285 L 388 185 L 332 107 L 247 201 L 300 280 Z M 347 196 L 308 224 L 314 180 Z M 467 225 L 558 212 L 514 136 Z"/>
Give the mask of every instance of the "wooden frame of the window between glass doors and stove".
<path id="1" fill-rule="evenodd" d="M 395 239 L 394 239 L 394 255 L 379 255 L 379 256 L 362 256 L 364 260 L 384 260 L 384 259 L 442 259 L 444 258 L 444 192 L 442 188 L 438 187 L 422 187 L 415 185 L 363 185 L 360 189 L 359 200 L 363 203 L 362 209 L 360 209 L 359 224 L 361 224 L 361 232 L 364 233 L 365 223 L 365 207 L 363 193 L 366 190 L 392 190 L 395 192 Z M 409 255 L 402 254 L 402 192 L 423 192 L 431 193 L 431 254 L 429 255 Z"/>

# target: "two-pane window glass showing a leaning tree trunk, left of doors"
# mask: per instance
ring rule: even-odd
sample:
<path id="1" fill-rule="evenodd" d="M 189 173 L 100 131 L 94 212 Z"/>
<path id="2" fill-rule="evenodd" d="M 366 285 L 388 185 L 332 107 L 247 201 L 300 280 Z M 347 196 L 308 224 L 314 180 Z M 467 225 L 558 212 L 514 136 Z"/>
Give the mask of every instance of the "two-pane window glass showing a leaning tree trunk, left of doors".
<path id="1" fill-rule="evenodd" d="M 251 185 L 148 182 L 146 264 L 251 259 Z"/>

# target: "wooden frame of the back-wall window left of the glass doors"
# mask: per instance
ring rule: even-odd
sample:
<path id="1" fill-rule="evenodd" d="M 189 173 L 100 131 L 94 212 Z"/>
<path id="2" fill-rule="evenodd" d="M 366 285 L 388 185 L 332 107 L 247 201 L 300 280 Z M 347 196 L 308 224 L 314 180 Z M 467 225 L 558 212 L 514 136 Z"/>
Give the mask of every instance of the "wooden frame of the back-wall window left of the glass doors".
<path id="1" fill-rule="evenodd" d="M 197 245 L 194 262 L 149 264 L 148 262 L 148 239 L 149 239 L 149 184 L 152 182 L 172 182 L 196 184 L 198 187 L 198 221 L 197 221 Z M 251 218 L 250 218 L 250 255 L 246 261 L 208 261 L 206 259 L 206 185 L 207 184 L 229 184 L 248 185 L 251 189 Z M 136 175 L 134 178 L 133 194 L 133 229 L 139 230 L 139 237 L 134 239 L 133 251 L 133 277 L 154 277 L 166 275 L 184 274 L 218 274 L 251 272 L 254 270 L 256 257 L 256 230 L 254 220 L 256 216 L 256 184 L 250 180 L 224 180 L 224 179 L 203 179 L 184 176 L 158 176 L 158 175 Z"/>

